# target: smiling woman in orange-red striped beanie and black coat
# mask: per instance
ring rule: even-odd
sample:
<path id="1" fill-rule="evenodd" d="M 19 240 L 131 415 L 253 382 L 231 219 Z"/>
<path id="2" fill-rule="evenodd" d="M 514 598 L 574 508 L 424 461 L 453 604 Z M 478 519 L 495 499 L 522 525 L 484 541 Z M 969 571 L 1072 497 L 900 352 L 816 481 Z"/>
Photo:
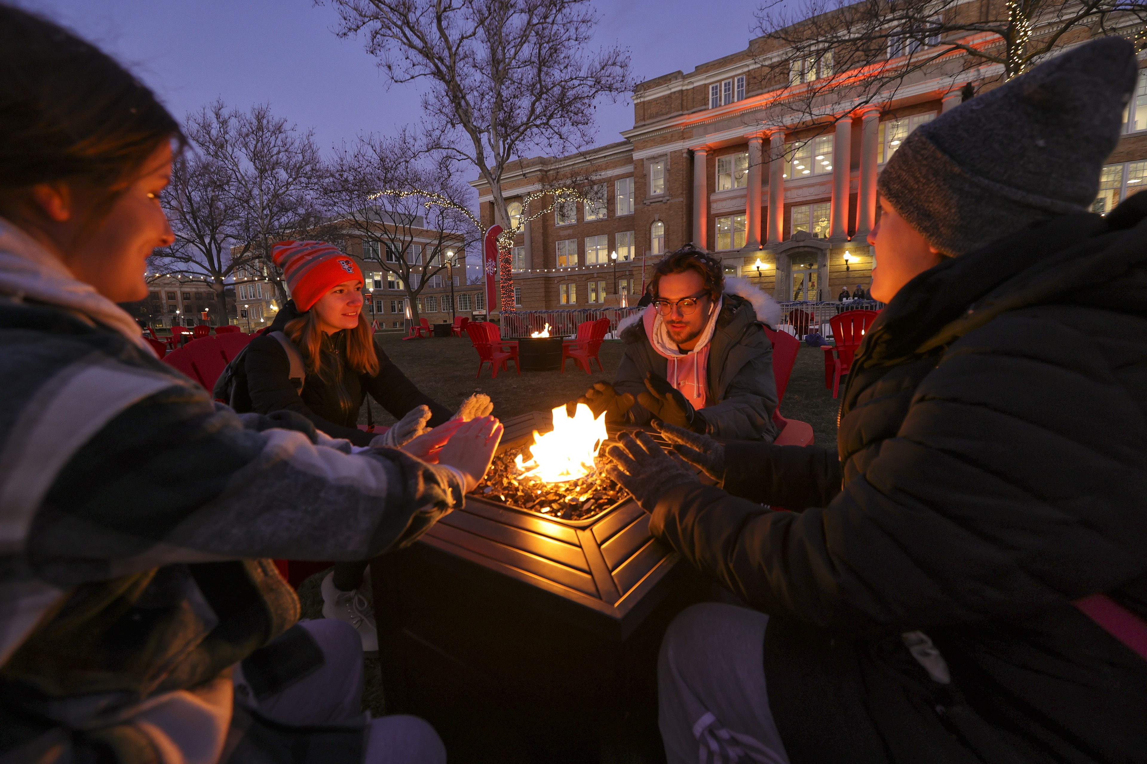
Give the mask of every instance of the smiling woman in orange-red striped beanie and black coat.
<path id="1" fill-rule="evenodd" d="M 374 340 L 362 315 L 362 274 L 358 265 L 322 242 L 280 242 L 273 250 L 292 296 L 271 331 L 251 340 L 237 379 L 236 411 L 295 411 L 331 438 L 354 446 L 405 446 L 429 427 L 484 417 L 490 397 L 475 394 L 451 415 L 421 393 Z M 290 354 L 303 362 L 303 378 L 291 372 Z M 382 434 L 358 428 L 359 410 L 370 395 L 398 423 Z M 362 649 L 379 649 L 372 604 L 359 593 L 366 561 L 337 562 L 322 581 L 322 614 L 350 623 Z"/>

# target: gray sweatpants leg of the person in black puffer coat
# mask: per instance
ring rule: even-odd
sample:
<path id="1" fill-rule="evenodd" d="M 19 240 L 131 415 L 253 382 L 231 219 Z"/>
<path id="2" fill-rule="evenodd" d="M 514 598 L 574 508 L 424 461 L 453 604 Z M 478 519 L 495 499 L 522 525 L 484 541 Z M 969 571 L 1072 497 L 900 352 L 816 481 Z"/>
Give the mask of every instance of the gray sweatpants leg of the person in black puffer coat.
<path id="1" fill-rule="evenodd" d="M 669 764 L 788 764 L 765 688 L 767 625 L 764 613 L 719 602 L 669 625 L 657 660 Z"/>

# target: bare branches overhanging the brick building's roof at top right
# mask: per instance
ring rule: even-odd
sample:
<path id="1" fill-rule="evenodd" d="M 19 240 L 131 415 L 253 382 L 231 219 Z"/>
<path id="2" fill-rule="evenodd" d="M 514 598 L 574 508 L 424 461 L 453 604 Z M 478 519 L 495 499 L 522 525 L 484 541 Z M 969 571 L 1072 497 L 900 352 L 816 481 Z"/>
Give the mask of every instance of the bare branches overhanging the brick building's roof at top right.
<path id="1" fill-rule="evenodd" d="M 770 0 L 757 10 L 760 89 L 788 111 L 830 124 L 838 104 L 884 105 L 922 79 L 977 88 L 1016 77 L 1055 48 L 1094 36 L 1141 38 L 1142 0 Z"/>

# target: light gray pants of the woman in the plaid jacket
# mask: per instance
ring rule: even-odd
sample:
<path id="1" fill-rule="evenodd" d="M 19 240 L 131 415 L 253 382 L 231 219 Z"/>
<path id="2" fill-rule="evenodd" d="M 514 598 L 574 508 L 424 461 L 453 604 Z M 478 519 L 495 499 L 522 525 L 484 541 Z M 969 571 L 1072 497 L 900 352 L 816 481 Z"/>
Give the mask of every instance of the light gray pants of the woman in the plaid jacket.
<path id="1" fill-rule="evenodd" d="M 259 714 L 292 726 L 336 724 L 362 709 L 362 640 L 349 623 L 323 619 L 299 625 L 311 632 L 325 657 L 322 668 L 280 693 L 258 701 Z M 235 667 L 235 680 L 242 672 Z M 248 693 L 249 695 L 249 693 Z M 446 748 L 416 716 L 372 719 L 362 764 L 445 764 Z"/>

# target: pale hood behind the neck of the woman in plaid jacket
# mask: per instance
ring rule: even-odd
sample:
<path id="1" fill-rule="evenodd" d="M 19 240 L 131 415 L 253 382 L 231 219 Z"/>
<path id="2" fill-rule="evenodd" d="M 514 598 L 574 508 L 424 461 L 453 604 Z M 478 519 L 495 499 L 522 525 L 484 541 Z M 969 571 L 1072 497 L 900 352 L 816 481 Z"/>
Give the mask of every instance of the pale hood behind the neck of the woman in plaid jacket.
<path id="1" fill-rule="evenodd" d="M 60 260 L 3 218 L 0 218 L 0 292 L 16 300 L 32 298 L 67 308 L 92 323 L 115 329 L 149 354 L 156 354 L 143 340 L 140 325 L 123 308 L 91 284 L 77 281 Z"/>

